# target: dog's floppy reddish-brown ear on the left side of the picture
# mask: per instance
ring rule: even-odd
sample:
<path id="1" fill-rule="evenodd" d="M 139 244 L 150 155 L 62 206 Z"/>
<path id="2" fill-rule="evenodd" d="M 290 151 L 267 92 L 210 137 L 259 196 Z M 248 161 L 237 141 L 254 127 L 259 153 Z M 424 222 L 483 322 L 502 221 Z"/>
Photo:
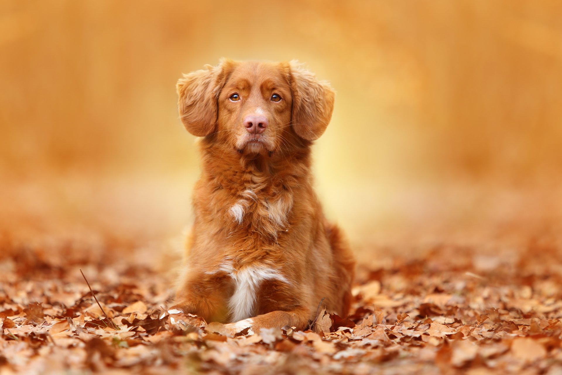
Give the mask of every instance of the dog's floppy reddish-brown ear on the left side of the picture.
<path id="1" fill-rule="evenodd" d="M 215 130 L 219 94 L 233 65 L 232 60 L 223 59 L 217 66 L 206 65 L 178 80 L 179 115 L 189 133 L 205 137 Z"/>

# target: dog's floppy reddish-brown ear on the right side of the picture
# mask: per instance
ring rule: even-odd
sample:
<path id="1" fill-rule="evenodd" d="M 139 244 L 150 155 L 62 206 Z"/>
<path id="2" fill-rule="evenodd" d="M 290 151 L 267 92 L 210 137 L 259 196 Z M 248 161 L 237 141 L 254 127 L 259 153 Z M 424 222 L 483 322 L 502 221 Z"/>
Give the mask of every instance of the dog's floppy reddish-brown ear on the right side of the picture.
<path id="1" fill-rule="evenodd" d="M 332 118 L 336 93 L 327 81 L 316 79 L 296 60 L 289 62 L 289 66 L 293 92 L 291 123 L 299 137 L 314 141 L 324 133 Z"/>

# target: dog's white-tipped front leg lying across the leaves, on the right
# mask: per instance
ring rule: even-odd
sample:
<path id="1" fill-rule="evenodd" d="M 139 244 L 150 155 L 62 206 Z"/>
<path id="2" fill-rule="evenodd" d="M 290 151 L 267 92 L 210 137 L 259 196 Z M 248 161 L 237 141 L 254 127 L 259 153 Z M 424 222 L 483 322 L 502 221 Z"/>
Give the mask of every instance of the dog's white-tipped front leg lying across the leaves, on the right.
<path id="1" fill-rule="evenodd" d="M 271 311 L 267 314 L 257 315 L 257 317 L 240 320 L 235 323 L 228 323 L 225 326 L 234 332 L 250 328 L 253 332 L 260 332 L 261 328 L 282 328 L 284 326 L 297 327 L 304 329 L 310 319 L 310 309 L 296 308 L 288 311 Z"/>

